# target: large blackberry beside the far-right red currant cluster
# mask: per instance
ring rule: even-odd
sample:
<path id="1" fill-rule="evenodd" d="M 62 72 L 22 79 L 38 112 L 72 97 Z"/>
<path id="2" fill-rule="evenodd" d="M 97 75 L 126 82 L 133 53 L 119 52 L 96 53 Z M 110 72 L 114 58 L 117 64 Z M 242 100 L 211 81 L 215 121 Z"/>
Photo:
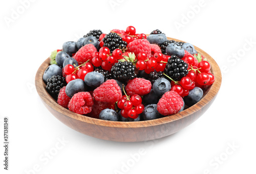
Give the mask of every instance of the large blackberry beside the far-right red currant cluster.
<path id="1" fill-rule="evenodd" d="M 188 65 L 176 55 L 172 55 L 166 63 L 164 72 L 175 81 L 180 81 L 188 73 Z"/>

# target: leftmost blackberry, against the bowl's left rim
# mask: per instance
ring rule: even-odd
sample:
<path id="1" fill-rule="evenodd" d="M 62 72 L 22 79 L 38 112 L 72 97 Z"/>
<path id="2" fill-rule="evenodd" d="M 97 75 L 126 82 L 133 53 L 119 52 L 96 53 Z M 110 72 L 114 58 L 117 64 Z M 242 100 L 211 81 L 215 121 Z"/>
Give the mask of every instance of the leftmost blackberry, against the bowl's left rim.
<path id="1" fill-rule="evenodd" d="M 57 96 L 59 94 L 59 90 L 66 86 L 66 79 L 60 75 L 53 75 L 51 78 L 47 79 L 46 89 L 53 95 Z"/>

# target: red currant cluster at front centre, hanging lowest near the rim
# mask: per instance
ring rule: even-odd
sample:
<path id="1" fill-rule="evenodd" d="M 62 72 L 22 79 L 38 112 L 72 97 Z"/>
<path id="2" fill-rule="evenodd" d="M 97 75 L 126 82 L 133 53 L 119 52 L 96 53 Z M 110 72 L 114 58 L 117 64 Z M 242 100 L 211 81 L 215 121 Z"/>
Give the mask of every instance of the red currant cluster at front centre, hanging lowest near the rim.
<path id="1" fill-rule="evenodd" d="M 123 117 L 136 119 L 144 111 L 144 105 L 141 102 L 142 98 L 138 94 L 132 95 L 131 98 L 123 95 L 118 100 L 117 106 L 121 109 L 121 115 Z"/>

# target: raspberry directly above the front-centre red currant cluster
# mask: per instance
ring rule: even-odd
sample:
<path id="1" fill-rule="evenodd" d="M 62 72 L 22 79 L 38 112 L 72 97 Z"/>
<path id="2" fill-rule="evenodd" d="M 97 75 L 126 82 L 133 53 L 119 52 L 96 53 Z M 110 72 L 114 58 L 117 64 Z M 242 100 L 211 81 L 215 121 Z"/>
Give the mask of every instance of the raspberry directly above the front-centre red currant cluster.
<path id="1" fill-rule="evenodd" d="M 130 95 L 130 96 L 134 94 L 138 94 L 140 96 L 146 95 L 150 93 L 151 82 L 146 79 L 135 78 L 129 81 L 129 83 L 127 83 L 127 85 L 125 86 L 125 90 L 127 95 Z"/>

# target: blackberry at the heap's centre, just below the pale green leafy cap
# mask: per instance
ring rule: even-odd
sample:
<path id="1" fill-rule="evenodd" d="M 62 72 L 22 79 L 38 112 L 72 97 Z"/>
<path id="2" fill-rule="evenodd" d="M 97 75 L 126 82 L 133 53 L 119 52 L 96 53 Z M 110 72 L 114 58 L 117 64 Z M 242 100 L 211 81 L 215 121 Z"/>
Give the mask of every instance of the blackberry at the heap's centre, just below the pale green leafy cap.
<path id="1" fill-rule="evenodd" d="M 120 82 L 132 80 L 137 77 L 133 62 L 127 62 L 127 61 L 117 62 L 115 63 L 114 66 L 112 66 L 111 72 L 112 72 L 113 78 Z"/>

